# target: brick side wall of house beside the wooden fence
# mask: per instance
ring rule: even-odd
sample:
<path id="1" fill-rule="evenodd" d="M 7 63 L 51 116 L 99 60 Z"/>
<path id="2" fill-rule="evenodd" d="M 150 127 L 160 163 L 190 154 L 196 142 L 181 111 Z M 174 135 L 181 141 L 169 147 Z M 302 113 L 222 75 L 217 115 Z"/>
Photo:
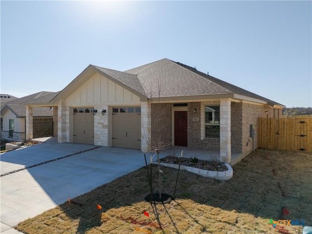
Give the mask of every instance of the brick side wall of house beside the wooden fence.
<path id="1" fill-rule="evenodd" d="M 268 111 L 268 114 L 266 114 L 265 111 Z M 249 137 L 250 124 L 254 125 L 254 131 L 255 131 L 254 149 L 258 147 L 257 145 L 258 117 L 273 117 L 273 107 L 254 105 L 250 103 L 242 103 L 242 125 L 243 125 L 242 127 L 242 153 L 243 155 L 248 155 L 253 150 L 253 139 Z"/>

